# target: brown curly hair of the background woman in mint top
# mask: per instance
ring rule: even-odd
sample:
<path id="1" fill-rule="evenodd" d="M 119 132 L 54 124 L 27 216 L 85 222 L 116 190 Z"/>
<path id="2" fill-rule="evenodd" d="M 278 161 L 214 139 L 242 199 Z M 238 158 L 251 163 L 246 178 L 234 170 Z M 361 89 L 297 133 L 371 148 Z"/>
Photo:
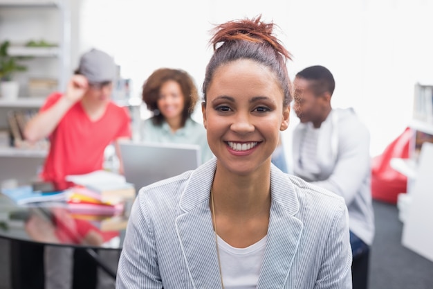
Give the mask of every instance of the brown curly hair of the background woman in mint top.
<path id="1" fill-rule="evenodd" d="M 199 92 L 194 84 L 194 80 L 186 71 L 169 68 L 157 69 L 151 73 L 151 76 L 149 76 L 142 85 L 142 100 L 146 103 L 148 110 L 151 112 L 158 112 L 160 87 L 169 80 L 174 80 L 181 86 L 181 91 L 185 100 L 181 123 L 181 125 L 184 126 L 185 121 L 191 116 L 194 107 L 199 100 Z M 152 117 L 152 121 L 156 125 L 161 125 L 164 121 L 164 116 L 156 113 Z"/>

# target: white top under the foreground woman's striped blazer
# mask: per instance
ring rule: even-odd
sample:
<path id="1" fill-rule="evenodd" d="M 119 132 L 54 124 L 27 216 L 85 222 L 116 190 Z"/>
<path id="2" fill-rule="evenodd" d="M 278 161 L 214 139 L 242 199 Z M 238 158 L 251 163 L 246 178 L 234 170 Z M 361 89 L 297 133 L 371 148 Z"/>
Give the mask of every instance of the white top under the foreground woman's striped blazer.
<path id="1" fill-rule="evenodd" d="M 224 288 L 257 288 L 266 247 L 266 236 L 246 248 L 232 247 L 218 236 L 218 247 Z"/>

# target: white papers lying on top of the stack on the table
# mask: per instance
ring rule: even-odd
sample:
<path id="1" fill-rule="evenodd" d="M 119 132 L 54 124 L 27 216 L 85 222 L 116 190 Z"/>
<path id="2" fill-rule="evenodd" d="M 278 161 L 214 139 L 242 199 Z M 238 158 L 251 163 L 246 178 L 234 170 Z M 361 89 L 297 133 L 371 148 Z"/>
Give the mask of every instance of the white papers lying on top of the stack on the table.
<path id="1" fill-rule="evenodd" d="M 84 175 L 67 175 L 66 180 L 82 186 L 91 186 L 95 184 L 123 184 L 126 182 L 125 176 L 117 173 L 111 173 L 107 170 L 95 170 L 92 173 Z"/>

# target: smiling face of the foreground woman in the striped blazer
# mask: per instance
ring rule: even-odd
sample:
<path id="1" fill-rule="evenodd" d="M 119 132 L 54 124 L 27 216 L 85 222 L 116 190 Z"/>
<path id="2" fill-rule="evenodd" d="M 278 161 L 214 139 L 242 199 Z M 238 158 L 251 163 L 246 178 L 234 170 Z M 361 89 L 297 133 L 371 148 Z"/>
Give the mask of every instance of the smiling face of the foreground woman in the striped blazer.
<path id="1" fill-rule="evenodd" d="M 219 165 L 239 175 L 270 166 L 290 112 L 275 73 L 252 60 L 224 64 L 206 97 L 203 121 Z"/>

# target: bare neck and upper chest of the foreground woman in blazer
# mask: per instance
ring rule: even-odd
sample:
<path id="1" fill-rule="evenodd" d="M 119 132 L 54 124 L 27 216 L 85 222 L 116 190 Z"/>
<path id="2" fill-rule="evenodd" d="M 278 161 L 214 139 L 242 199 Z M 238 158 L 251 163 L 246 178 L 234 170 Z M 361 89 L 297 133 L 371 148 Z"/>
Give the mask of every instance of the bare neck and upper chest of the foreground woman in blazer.
<path id="1" fill-rule="evenodd" d="M 215 234 L 233 247 L 248 247 L 268 234 L 270 166 L 265 168 L 267 173 L 239 176 L 216 167 L 210 192 L 212 221 Z"/>

